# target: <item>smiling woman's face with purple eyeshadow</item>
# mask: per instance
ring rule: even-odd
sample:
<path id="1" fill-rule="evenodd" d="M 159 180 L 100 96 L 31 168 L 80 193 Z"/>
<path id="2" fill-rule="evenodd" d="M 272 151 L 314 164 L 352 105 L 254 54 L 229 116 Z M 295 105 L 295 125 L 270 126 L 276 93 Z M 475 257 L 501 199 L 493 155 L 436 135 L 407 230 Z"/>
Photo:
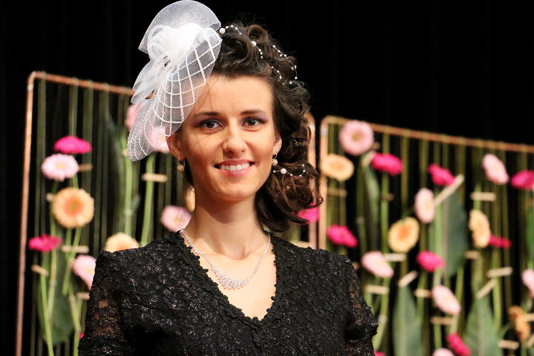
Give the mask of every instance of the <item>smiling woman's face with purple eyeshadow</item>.
<path id="1" fill-rule="evenodd" d="M 281 147 L 270 85 L 258 77 L 210 76 L 167 143 L 176 158 L 187 159 L 197 197 L 240 201 L 254 196 Z"/>

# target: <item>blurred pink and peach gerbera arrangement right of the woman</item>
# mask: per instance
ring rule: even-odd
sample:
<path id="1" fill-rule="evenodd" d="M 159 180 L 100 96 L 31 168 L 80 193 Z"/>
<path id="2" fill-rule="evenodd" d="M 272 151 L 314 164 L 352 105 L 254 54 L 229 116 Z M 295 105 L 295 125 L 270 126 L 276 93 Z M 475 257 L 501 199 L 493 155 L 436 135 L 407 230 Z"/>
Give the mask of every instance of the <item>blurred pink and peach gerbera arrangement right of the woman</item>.
<path id="1" fill-rule="evenodd" d="M 406 195 L 401 194 L 402 216 L 390 223 L 389 204 L 397 199 L 390 193 L 390 181 L 407 186 L 407 151 L 402 151 L 401 144 L 402 159 L 390 153 L 389 136 L 382 134 L 384 146 L 377 152 L 380 145 L 374 142 L 371 127 L 361 121 L 332 118 L 327 132 L 327 147 L 334 153 L 323 154 L 319 166 L 321 175 L 328 177 L 327 248 L 351 257 L 359 251 L 360 264 L 355 265 L 363 267 L 360 279 L 365 300 L 379 322 L 373 337 L 375 355 L 494 356 L 507 349 L 520 350 L 525 356 L 534 354 L 530 328 L 534 320 L 534 195 L 528 195 L 524 210 L 530 259 L 521 279 L 528 298 L 522 297 L 522 304 L 512 305 L 507 313 L 503 285 L 514 271 L 510 260 L 503 258 L 512 241 L 498 235 L 501 228 L 493 225 L 500 224 L 499 218 L 488 208 L 506 199 L 499 194 L 500 186 L 506 188 L 508 183 L 532 192 L 534 171 L 522 170 L 510 178 L 497 155 L 473 156 L 473 208 L 466 211 L 460 195 L 464 193 L 459 193 L 465 189 L 464 176 L 454 176 L 446 167 L 431 163 L 425 168 L 431 186 L 421 178 L 411 207 L 407 190 Z M 331 157 L 351 168 L 339 175 L 341 164 L 332 165 Z M 358 164 L 353 163 L 356 161 Z M 420 164 L 423 162 L 428 164 Z M 339 216 L 346 211 L 345 204 L 350 204 L 340 202 L 344 200 L 340 191 L 345 184 L 354 184 L 353 179 L 357 234 L 352 234 Z M 342 236 L 349 233 L 358 236 L 354 247 L 343 243 Z M 415 268 L 409 271 L 410 266 Z M 466 300 L 467 287 L 473 299 Z"/>

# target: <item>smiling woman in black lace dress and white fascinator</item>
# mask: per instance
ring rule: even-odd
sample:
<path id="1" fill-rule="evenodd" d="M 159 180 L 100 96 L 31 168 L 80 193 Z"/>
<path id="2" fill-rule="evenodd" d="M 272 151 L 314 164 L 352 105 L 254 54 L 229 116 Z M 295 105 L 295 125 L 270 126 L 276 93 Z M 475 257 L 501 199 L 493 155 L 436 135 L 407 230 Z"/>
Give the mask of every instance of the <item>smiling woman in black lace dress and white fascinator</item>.
<path id="1" fill-rule="evenodd" d="M 172 5 L 184 3 L 193 6 L 187 13 L 207 11 L 190 1 Z M 169 6 L 160 14 L 168 16 Z M 166 30 L 160 43 L 176 44 L 171 36 L 183 35 Z M 216 43 L 210 30 L 200 41 L 195 31 L 193 46 Z M 156 86 L 129 137 L 133 159 L 166 137 L 195 188 L 191 221 L 145 247 L 100 252 L 80 354 L 373 355 L 377 325 L 350 260 L 272 235 L 289 221 L 304 223 L 298 212 L 320 202 L 317 172 L 307 163 L 308 93 L 296 81 L 295 59 L 257 25 L 216 34 L 220 53 L 203 52 L 216 60 L 206 67 L 210 74 L 197 76 L 203 82 L 193 105 L 173 114 L 172 105 L 154 104 L 183 104 L 184 92 L 198 86 L 190 82 L 172 100 L 178 64 L 171 84 L 172 75 L 160 76 L 167 82 Z M 158 62 L 150 43 L 152 68 L 174 66 L 168 51 Z M 184 56 L 202 58 L 198 52 Z M 137 91 L 146 97 L 150 85 L 142 84 Z"/>

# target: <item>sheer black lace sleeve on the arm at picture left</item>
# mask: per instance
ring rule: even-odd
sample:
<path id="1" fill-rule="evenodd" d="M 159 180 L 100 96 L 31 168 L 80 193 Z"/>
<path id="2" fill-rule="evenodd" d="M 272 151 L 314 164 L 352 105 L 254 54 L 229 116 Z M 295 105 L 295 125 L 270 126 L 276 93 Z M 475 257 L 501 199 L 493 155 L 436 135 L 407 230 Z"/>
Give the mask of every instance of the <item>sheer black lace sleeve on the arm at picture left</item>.
<path id="1" fill-rule="evenodd" d="M 137 354 L 135 347 L 129 343 L 122 325 L 115 288 L 119 285 L 114 273 L 116 263 L 111 252 L 100 251 L 87 303 L 85 331 L 78 346 L 80 356 Z"/>

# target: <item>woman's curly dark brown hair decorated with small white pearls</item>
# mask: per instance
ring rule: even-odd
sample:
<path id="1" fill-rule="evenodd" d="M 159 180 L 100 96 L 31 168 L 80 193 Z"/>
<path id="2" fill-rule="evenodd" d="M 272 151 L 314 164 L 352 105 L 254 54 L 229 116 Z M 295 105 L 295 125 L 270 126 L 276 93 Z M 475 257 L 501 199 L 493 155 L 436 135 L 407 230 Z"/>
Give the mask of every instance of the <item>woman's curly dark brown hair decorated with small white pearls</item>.
<path id="1" fill-rule="evenodd" d="M 282 139 L 277 155 L 280 163 L 273 170 L 285 168 L 297 174 L 271 173 L 256 193 L 255 205 L 258 220 L 264 227 L 272 232 L 285 232 L 289 221 L 307 222 L 299 217 L 300 211 L 317 207 L 323 201 L 319 194 L 319 174 L 307 159 L 311 130 L 304 115 L 310 109 L 309 93 L 295 79 L 295 57 L 284 56 L 267 30 L 259 25 L 232 25 L 219 34 L 223 42 L 211 73 L 229 79 L 262 77 L 271 85 L 274 126 Z M 300 176 L 303 170 L 305 173 Z M 186 177 L 192 182 L 188 169 Z"/>

